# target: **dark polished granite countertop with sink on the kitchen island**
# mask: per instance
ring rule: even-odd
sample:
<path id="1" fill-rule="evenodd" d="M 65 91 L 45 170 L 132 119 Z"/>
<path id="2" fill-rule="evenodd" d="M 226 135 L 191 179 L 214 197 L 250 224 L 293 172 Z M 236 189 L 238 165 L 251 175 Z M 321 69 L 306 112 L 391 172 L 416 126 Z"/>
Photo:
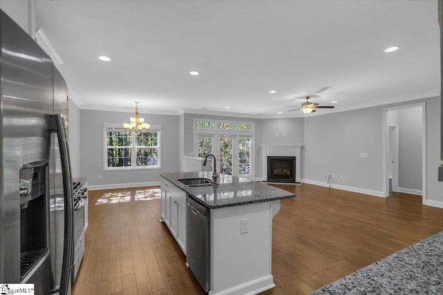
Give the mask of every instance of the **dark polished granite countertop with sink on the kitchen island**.
<path id="1" fill-rule="evenodd" d="M 185 178 L 208 178 L 212 180 L 213 174 L 210 171 L 172 172 L 160 173 L 160 175 L 210 209 L 295 197 L 289 191 L 271 187 L 268 184 L 224 174 L 217 179 L 219 185 L 216 187 L 188 187 L 179 182 L 179 179 Z"/>

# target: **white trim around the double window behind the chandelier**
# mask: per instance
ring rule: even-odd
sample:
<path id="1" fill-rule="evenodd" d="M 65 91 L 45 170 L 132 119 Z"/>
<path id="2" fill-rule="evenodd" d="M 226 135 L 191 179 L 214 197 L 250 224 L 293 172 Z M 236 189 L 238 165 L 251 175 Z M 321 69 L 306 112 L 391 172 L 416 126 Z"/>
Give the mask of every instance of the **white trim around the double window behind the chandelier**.
<path id="1" fill-rule="evenodd" d="M 102 142 L 102 151 L 103 151 L 103 171 L 126 171 L 126 170 L 155 170 L 155 169 L 161 169 L 161 125 L 151 125 L 150 131 L 158 131 L 159 137 L 158 137 L 158 144 L 159 147 L 157 148 L 157 160 L 159 161 L 159 164 L 156 166 L 130 166 L 130 167 L 108 167 L 107 162 L 107 138 L 106 138 L 106 130 L 110 128 L 115 129 L 124 129 L 122 124 L 115 124 L 115 123 L 103 123 L 103 142 Z"/>

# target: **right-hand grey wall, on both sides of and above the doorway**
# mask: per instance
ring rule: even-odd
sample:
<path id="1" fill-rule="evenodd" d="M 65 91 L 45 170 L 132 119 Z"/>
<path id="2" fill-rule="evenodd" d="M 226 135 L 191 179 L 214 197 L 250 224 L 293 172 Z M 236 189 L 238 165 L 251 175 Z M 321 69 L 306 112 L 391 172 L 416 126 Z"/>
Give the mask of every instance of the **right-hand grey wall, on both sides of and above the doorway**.
<path id="1" fill-rule="evenodd" d="M 443 182 L 437 181 L 440 160 L 440 97 L 418 99 L 426 103 L 426 204 L 443 207 Z M 383 194 L 383 108 L 390 104 L 305 119 L 305 181 L 332 184 L 377 196 Z M 400 120 L 400 119 L 399 119 Z M 368 153 L 368 158 L 360 158 Z M 343 175 L 343 179 L 340 179 Z"/>

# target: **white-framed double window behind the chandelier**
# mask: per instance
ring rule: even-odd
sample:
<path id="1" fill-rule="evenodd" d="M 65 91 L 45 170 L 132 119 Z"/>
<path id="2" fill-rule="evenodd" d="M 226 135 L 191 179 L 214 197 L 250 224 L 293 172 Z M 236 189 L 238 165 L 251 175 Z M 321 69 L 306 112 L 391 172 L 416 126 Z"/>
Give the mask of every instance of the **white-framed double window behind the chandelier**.
<path id="1" fill-rule="evenodd" d="M 161 168 L 160 127 L 134 133 L 104 124 L 105 170 Z"/>

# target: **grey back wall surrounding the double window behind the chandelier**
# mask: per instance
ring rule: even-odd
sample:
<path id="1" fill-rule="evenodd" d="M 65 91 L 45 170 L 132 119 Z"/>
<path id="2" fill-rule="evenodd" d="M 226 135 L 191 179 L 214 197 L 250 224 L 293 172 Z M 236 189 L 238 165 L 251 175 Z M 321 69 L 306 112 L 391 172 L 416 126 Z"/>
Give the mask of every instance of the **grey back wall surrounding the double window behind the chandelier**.
<path id="1" fill-rule="evenodd" d="M 145 122 L 161 126 L 161 169 L 104 171 L 103 169 L 103 123 L 123 124 L 133 113 L 109 111 L 80 111 L 82 177 L 89 178 L 94 188 L 132 187 L 156 184 L 159 173 L 179 171 L 179 117 L 141 113 Z M 98 179 L 102 175 L 102 179 Z"/>

